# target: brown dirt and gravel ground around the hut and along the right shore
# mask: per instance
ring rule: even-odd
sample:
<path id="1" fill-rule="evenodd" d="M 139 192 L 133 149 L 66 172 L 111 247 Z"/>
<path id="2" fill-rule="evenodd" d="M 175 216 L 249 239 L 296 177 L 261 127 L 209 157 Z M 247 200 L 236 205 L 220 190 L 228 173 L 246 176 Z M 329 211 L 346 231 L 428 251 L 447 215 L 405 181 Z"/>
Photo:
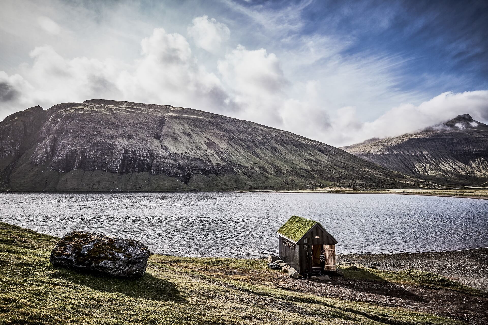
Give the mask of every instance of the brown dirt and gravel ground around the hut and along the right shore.
<path id="1" fill-rule="evenodd" d="M 442 274 L 469 287 L 488 292 L 488 249 L 469 249 L 450 252 L 347 254 L 337 255 L 337 262 L 370 266 L 384 270 L 414 268 Z M 274 286 L 290 292 L 314 294 L 383 306 L 404 307 L 410 310 L 437 314 L 472 325 L 488 324 L 488 298 L 471 296 L 452 290 L 407 286 L 389 282 L 352 280 L 332 277 L 331 282 L 305 279 L 295 280 L 283 271 L 268 268 L 244 268 L 222 265 L 220 262 L 194 264 L 184 258 L 162 262 L 176 268 L 195 269 L 212 278 Z"/>

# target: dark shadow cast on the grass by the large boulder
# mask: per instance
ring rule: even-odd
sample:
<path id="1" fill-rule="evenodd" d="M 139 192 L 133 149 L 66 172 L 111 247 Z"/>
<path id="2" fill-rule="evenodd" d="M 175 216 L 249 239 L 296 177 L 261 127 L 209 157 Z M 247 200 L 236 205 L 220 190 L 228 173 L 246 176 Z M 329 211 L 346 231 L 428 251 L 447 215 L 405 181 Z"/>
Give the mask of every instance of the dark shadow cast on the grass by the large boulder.
<path id="1" fill-rule="evenodd" d="M 50 276 L 79 286 L 90 287 L 100 292 L 118 292 L 132 298 L 186 303 L 173 283 L 149 273 L 145 273 L 140 278 L 118 278 L 91 272 L 54 268 Z"/>

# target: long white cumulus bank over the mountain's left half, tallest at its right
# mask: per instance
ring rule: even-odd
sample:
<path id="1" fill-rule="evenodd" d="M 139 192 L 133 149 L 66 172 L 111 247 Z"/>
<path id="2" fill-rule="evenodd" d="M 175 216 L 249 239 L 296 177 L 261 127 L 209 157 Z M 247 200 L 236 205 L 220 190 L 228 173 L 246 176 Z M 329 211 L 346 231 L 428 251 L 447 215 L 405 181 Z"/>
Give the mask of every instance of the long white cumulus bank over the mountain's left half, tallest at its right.
<path id="1" fill-rule="evenodd" d="M 0 100 L 12 110 L 33 105 L 46 108 L 87 98 L 163 103 L 210 112 L 232 109 L 220 79 L 192 55 L 181 34 L 156 28 L 141 41 L 141 57 L 132 63 L 87 57 L 67 59 L 51 46 L 30 52 L 32 65 L 20 74 L 0 72 Z"/>

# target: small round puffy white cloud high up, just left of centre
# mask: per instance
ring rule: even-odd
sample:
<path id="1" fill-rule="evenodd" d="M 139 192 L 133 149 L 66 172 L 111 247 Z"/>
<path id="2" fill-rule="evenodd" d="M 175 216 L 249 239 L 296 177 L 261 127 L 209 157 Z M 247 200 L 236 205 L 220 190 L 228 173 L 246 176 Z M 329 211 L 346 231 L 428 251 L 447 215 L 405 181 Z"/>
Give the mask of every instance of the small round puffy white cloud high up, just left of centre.
<path id="1" fill-rule="evenodd" d="M 214 54 L 219 52 L 230 37 L 230 30 L 225 24 L 214 18 L 208 19 L 207 15 L 195 17 L 192 25 L 188 26 L 187 33 L 198 47 Z"/>

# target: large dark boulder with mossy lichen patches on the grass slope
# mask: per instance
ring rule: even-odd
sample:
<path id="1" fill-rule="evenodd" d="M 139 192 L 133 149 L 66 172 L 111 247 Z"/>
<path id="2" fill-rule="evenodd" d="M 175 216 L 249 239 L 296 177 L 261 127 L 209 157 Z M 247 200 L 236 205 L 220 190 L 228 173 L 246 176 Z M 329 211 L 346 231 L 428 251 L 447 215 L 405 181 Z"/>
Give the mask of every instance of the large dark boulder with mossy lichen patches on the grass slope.
<path id="1" fill-rule="evenodd" d="M 51 251 L 53 265 L 121 277 L 144 275 L 149 258 L 147 246 L 132 239 L 73 231 Z"/>

